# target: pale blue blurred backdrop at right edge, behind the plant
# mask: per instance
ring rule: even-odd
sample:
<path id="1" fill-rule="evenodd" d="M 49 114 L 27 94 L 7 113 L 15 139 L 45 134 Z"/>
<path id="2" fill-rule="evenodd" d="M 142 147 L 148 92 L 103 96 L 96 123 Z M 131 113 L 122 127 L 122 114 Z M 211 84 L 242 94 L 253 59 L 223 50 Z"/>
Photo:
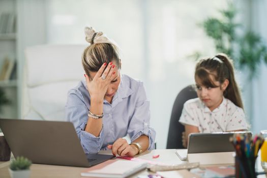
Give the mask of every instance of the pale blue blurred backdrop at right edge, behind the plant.
<path id="1" fill-rule="evenodd" d="M 267 21 L 266 21 L 266 9 L 267 0 L 246 0 L 245 6 L 247 11 L 248 29 L 258 33 L 262 37 L 263 43 L 267 46 Z M 244 74 L 246 71 L 244 71 Z M 259 134 L 260 130 L 267 130 L 267 65 L 261 63 L 258 66 L 257 75 L 252 81 L 248 81 L 244 75 L 243 90 L 245 98 L 245 109 L 248 111 L 248 115 L 252 124 L 252 131 Z"/>

